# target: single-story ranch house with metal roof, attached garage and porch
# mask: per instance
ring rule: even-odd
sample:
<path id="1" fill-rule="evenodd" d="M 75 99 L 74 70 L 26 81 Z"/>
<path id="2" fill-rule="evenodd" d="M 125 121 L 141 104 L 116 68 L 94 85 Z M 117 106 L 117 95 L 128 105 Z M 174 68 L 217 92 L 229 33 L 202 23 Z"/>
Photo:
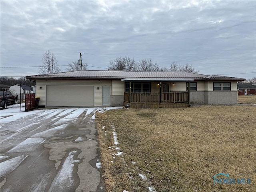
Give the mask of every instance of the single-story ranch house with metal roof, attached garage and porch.
<path id="1" fill-rule="evenodd" d="M 36 80 L 39 106 L 176 107 L 236 104 L 243 78 L 189 72 L 90 71 L 26 76 Z M 190 84 L 190 86 L 188 86 Z"/>

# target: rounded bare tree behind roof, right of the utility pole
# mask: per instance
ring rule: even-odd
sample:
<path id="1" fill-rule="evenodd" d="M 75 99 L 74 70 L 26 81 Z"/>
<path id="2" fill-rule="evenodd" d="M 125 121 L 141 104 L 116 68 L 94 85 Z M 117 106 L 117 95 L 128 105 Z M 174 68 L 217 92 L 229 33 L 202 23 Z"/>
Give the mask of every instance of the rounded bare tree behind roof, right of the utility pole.
<path id="1" fill-rule="evenodd" d="M 130 58 L 125 56 L 124 58 L 118 57 L 114 60 L 110 60 L 110 66 L 108 68 L 110 70 L 115 71 L 135 71 L 137 70 L 136 62 L 134 58 Z"/>

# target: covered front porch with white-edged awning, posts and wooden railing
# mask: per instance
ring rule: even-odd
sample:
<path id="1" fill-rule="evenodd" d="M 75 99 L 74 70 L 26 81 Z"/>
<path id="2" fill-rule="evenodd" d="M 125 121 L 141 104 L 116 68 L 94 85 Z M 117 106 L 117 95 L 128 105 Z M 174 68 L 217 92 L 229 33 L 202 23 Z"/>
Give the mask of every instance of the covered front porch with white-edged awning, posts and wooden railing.
<path id="1" fill-rule="evenodd" d="M 190 106 L 191 79 L 123 79 L 125 81 L 124 105 L 131 108 L 171 108 Z M 150 83 L 150 88 L 148 85 Z M 175 91 L 179 84 L 182 90 Z M 141 87 L 140 87 L 141 84 Z M 157 87 L 155 86 L 157 85 Z M 186 88 L 187 86 L 187 88 Z M 153 91 L 152 91 L 153 90 Z"/>

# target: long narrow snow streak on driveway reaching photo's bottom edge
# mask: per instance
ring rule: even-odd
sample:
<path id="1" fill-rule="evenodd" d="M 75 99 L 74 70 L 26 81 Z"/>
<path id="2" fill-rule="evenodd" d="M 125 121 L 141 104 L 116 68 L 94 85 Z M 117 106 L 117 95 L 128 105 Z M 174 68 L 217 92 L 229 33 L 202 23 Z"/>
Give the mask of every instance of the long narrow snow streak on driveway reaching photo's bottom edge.
<path id="1" fill-rule="evenodd" d="M 56 178 L 54 179 L 54 182 L 52 182 L 49 191 L 67 191 L 68 188 L 72 187 L 74 182 L 72 178 L 74 163 L 79 162 L 79 160 L 74 160 L 75 153 L 76 151 L 72 151 L 68 154 L 66 160 L 64 161 L 60 169 L 60 172 L 57 174 Z"/>

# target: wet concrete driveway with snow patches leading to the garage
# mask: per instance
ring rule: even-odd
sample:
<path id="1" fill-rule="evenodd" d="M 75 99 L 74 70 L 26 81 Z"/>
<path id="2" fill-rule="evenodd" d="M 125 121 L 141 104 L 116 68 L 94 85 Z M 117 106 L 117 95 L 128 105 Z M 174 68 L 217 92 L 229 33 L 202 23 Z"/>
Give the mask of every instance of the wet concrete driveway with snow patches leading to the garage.
<path id="1" fill-rule="evenodd" d="M 104 191 L 97 108 L 19 107 L 1 110 L 1 191 Z"/>

